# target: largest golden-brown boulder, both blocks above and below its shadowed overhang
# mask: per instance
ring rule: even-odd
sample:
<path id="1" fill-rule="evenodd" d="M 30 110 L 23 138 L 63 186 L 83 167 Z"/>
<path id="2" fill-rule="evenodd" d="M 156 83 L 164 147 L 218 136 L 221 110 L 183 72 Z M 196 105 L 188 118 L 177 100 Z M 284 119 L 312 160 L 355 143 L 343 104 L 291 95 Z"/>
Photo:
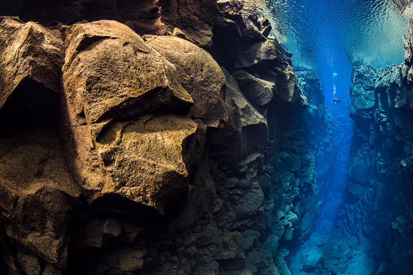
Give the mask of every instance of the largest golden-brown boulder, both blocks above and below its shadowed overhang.
<path id="1" fill-rule="evenodd" d="M 116 21 L 73 25 L 65 47 L 61 135 L 74 178 L 90 202 L 118 194 L 163 214 L 186 196 L 199 161 L 197 124 L 168 114 L 193 104 L 179 73 Z"/>

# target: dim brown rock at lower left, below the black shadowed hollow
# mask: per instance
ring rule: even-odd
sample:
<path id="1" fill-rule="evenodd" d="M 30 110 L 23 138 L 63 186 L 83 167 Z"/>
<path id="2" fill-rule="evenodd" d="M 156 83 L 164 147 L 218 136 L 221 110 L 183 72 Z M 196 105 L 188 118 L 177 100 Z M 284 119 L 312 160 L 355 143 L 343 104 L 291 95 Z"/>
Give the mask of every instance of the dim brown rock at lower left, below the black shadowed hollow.
<path id="1" fill-rule="evenodd" d="M 8 237 L 63 268 L 71 200 L 80 192 L 52 129 L 35 126 L 0 137 L 0 206 Z"/>

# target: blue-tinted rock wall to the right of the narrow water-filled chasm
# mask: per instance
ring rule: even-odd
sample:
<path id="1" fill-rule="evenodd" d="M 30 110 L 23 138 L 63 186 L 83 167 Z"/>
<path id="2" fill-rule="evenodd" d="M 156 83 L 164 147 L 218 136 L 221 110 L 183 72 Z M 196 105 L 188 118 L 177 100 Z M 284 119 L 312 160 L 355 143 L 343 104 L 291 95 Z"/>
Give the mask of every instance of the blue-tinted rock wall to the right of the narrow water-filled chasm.
<path id="1" fill-rule="evenodd" d="M 342 230 L 375 243 L 377 274 L 413 272 L 411 37 L 405 61 L 352 70 L 350 117 L 354 120 Z"/>

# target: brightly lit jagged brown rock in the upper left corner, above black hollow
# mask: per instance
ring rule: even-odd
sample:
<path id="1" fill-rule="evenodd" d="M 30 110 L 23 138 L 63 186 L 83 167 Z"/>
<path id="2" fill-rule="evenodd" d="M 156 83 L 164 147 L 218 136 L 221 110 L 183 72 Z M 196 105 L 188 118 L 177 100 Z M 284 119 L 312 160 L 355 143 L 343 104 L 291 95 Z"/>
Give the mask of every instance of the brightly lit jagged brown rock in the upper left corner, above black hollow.
<path id="1" fill-rule="evenodd" d="M 0 17 L 0 108 L 19 83 L 28 78 L 59 92 L 63 43 L 34 22 Z"/>

